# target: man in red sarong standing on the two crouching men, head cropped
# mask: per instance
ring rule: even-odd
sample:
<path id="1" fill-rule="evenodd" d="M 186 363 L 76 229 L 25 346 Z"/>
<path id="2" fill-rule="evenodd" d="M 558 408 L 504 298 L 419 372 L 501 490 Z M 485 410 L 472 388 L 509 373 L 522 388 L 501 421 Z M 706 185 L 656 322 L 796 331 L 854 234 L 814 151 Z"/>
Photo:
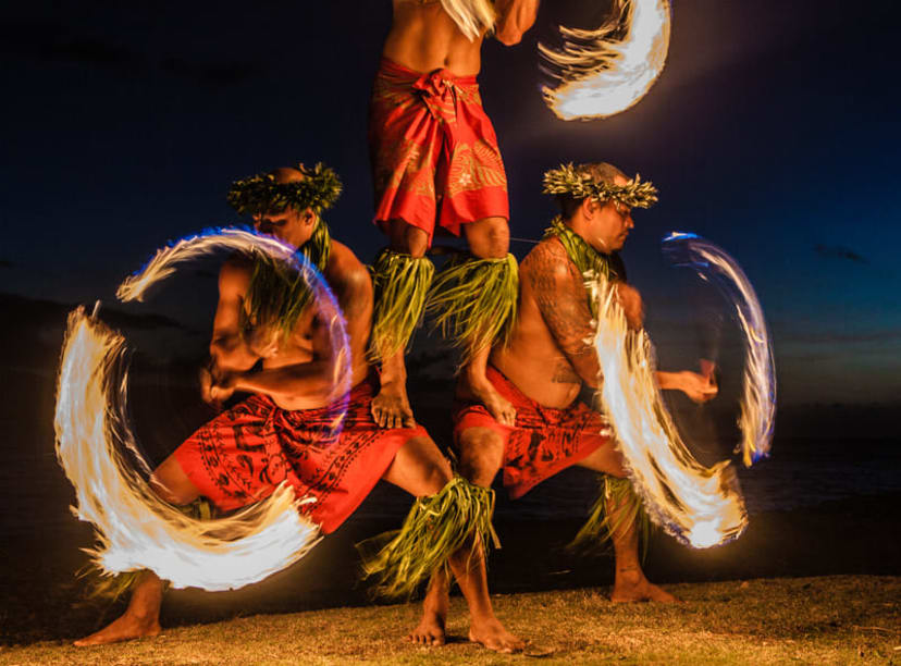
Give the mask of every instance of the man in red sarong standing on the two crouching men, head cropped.
<path id="1" fill-rule="evenodd" d="M 485 35 L 518 44 L 539 0 L 393 0 L 370 107 L 375 222 L 388 247 L 373 266 L 372 353 L 382 390 L 372 400 L 386 427 L 415 424 L 404 351 L 427 307 L 462 349 L 462 373 L 501 422 L 514 410 L 485 379 L 492 344 L 516 310 L 517 266 L 508 254 L 507 177 L 476 76 Z M 432 283 L 424 256 L 435 226 L 466 237 L 470 255 Z M 431 285 L 431 289 L 430 289 Z"/>

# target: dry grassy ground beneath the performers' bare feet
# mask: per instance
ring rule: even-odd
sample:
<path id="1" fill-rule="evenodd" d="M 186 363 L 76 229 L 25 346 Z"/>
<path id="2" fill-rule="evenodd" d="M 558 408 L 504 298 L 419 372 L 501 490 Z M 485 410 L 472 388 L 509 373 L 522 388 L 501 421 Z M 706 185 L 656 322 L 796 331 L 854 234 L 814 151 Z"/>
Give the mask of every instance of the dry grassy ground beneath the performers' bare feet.
<path id="1" fill-rule="evenodd" d="M 415 604 L 332 608 L 169 629 L 157 639 L 92 649 L 40 642 L 0 648 L 0 664 L 899 664 L 901 577 L 830 576 L 669 585 L 687 603 L 614 605 L 606 589 L 494 597 L 530 639 L 523 655 L 466 642 L 453 600 L 449 644 L 399 640 Z"/>

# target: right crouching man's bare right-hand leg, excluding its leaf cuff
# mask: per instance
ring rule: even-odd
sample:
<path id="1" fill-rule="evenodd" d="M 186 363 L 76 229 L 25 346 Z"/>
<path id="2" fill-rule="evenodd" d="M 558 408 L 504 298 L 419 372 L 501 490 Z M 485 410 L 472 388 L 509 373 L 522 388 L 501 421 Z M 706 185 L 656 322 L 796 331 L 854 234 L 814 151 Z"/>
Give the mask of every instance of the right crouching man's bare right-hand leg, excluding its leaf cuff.
<path id="1" fill-rule="evenodd" d="M 587 467 L 594 471 L 604 472 L 622 479 L 626 470 L 622 468 L 622 454 L 607 444 L 594 451 L 589 457 L 579 462 L 580 467 Z M 622 507 L 625 508 L 625 507 Z M 613 507 L 613 519 L 616 525 L 616 514 L 621 507 Z M 614 554 L 616 558 L 616 575 L 614 578 L 614 591 L 610 601 L 637 602 L 677 602 L 672 594 L 658 588 L 647 580 L 641 568 L 639 558 L 639 533 L 638 526 L 632 522 L 622 525 L 613 534 Z"/>

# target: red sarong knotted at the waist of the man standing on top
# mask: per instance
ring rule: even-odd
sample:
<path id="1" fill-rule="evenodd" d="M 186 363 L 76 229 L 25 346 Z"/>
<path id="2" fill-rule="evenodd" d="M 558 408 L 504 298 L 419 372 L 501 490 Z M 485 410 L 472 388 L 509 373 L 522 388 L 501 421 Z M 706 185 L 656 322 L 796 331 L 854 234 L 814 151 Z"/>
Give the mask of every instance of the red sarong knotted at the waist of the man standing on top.
<path id="1" fill-rule="evenodd" d="M 435 222 L 459 235 L 460 224 L 509 219 L 507 176 L 474 76 L 420 74 L 383 59 L 369 146 L 378 224 L 403 220 L 431 245 Z"/>

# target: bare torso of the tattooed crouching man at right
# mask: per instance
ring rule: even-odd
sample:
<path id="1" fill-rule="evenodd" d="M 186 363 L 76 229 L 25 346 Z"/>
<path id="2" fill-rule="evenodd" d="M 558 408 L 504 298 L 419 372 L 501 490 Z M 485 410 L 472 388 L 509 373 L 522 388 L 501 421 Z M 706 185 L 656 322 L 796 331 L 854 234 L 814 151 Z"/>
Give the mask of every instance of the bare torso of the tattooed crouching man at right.
<path id="1" fill-rule="evenodd" d="M 546 407 L 565 408 L 579 395 L 581 379 L 542 314 L 536 285 L 544 291 L 552 276 L 553 262 L 569 262 L 556 239 L 543 240 L 520 267 L 519 312 L 513 340 L 492 350 L 490 362 L 527 396 Z M 572 282 L 576 298 L 584 300 L 584 316 L 569 317 L 575 337 L 591 334 L 591 313 L 584 287 Z M 553 287 L 548 284 L 547 291 Z M 581 293 L 579 293 L 579 291 Z M 567 313 L 571 314 L 571 313 Z M 588 348 L 588 345 L 585 345 Z"/>

